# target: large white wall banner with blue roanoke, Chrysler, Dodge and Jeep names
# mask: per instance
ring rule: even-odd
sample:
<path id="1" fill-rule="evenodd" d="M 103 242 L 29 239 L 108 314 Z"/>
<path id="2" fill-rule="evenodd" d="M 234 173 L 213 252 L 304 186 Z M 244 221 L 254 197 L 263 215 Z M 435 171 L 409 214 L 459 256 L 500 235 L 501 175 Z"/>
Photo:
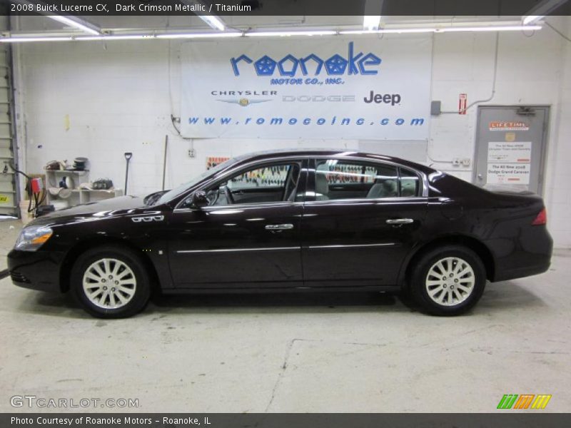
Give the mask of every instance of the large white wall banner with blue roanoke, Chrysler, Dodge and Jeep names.
<path id="1" fill-rule="evenodd" d="M 428 139 L 428 36 L 183 44 L 191 138 Z"/>

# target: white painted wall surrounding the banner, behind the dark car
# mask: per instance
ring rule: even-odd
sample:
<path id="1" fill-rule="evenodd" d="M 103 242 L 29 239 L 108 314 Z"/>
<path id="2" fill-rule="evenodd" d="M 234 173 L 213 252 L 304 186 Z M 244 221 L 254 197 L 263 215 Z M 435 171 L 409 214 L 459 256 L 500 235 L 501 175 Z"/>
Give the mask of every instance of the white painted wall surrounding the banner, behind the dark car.
<path id="1" fill-rule="evenodd" d="M 571 34 L 571 19 L 550 19 Z M 500 34 L 497 88 L 489 105 L 545 104 L 552 108 L 545 197 L 558 246 L 571 247 L 571 47 L 551 29 L 527 37 Z M 433 45 L 433 99 L 444 110 L 491 94 L 495 34 L 439 34 Z M 167 187 L 206 168 L 206 156 L 235 156 L 265 148 L 338 146 L 399 155 L 433 164 L 470 180 L 477 108 L 465 116 L 431 121 L 428 142 L 184 140 L 171 125 L 179 115 L 180 42 L 126 41 L 19 46 L 16 52 L 20 146 L 24 168 L 37 173 L 52 158 L 91 160 L 91 178 L 109 177 L 123 187 L 123 152 L 134 153 L 129 193 L 161 186 L 163 141 L 170 138 Z M 565 102 L 563 102 L 565 100 Z M 196 158 L 188 157 L 195 148 Z M 557 153 L 557 154 L 556 154 Z"/>

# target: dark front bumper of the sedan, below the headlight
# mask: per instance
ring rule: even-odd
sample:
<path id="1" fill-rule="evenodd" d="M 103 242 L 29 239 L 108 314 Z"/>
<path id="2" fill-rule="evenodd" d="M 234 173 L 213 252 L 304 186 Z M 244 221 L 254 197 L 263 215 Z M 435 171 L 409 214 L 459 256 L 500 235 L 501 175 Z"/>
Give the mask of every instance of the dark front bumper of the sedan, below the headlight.
<path id="1" fill-rule="evenodd" d="M 8 270 L 14 285 L 31 290 L 61 292 L 60 267 L 64 253 L 18 251 L 8 254 Z"/>

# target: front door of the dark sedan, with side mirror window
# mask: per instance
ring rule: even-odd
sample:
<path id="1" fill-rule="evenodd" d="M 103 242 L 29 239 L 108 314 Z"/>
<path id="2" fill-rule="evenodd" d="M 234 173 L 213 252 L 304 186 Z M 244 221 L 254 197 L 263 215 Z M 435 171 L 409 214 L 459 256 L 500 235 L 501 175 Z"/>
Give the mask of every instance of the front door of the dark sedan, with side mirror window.
<path id="1" fill-rule="evenodd" d="M 202 189 L 210 205 L 198 209 L 183 202 L 175 209 L 169 233 L 175 286 L 301 285 L 303 200 L 296 197 L 303 198 L 305 189 L 303 162 L 257 163 L 229 173 Z"/>

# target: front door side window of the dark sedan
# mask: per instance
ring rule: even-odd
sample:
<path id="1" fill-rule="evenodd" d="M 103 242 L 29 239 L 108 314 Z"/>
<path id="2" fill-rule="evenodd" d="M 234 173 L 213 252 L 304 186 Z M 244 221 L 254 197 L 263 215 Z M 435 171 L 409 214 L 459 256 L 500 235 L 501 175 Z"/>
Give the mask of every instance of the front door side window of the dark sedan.
<path id="1" fill-rule="evenodd" d="M 299 163 L 276 163 L 243 170 L 206 190 L 208 205 L 271 203 L 295 200 Z"/>

